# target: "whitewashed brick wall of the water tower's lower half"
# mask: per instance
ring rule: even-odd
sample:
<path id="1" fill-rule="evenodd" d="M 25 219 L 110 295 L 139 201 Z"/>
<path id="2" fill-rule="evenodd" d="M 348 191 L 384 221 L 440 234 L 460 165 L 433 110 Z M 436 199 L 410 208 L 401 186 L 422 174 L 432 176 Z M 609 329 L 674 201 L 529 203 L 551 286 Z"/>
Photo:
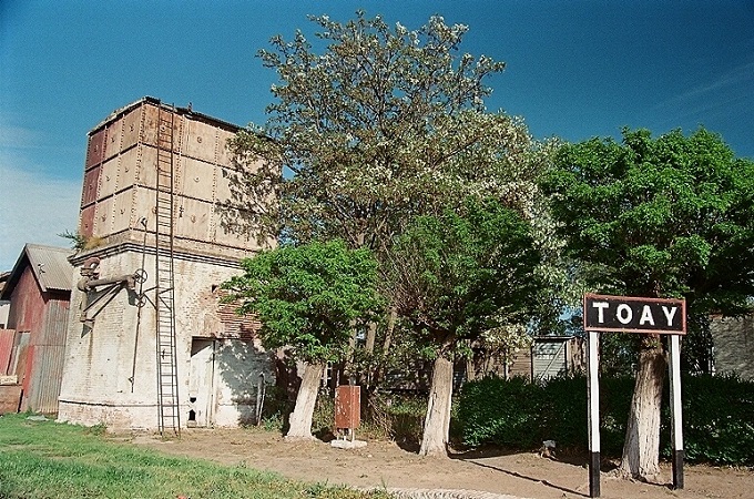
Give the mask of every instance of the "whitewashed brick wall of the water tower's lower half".
<path id="1" fill-rule="evenodd" d="M 130 251 L 103 257 L 100 276 L 129 274 L 141 267 L 141 252 Z M 143 289 L 154 286 L 154 258 L 147 255 L 149 274 Z M 216 340 L 213 374 L 206 378 L 212 386 L 208 425 L 236 426 L 252 410 L 249 386 L 256 386 L 259 373 L 274 383 L 271 356 L 254 336 L 257 323 L 240 320 L 224 323 L 218 304 L 217 286 L 238 272 L 222 263 L 182 257 L 175 259 L 175 318 L 177 335 L 179 394 L 185 425 L 190 400 L 192 345 L 196 338 Z M 59 419 L 80 422 L 104 422 L 112 427 L 155 428 L 156 343 L 154 292 L 139 307 L 139 289 L 121 289 L 94 316 L 91 327 L 79 320 L 83 293 L 75 289 L 71 297 L 68 348 L 60 396 Z M 151 302 L 150 302 L 151 301 Z M 141 310 L 141 312 L 140 312 Z M 94 310 L 90 312 L 90 316 Z M 242 334 L 243 333 L 243 334 Z M 231 353 L 233 353 L 231 355 Z M 228 357 L 228 355 L 231 355 Z M 194 383 L 196 385 L 196 383 Z"/>

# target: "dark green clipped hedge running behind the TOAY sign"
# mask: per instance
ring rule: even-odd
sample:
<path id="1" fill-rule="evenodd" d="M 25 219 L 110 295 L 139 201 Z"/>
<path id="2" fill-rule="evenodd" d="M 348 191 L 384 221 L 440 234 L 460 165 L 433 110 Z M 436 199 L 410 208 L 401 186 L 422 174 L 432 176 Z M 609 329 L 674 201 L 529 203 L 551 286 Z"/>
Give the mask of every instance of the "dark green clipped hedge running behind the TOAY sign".
<path id="1" fill-rule="evenodd" d="M 600 379 L 601 451 L 620 457 L 634 380 Z M 660 446 L 670 458 L 669 386 L 665 383 Z M 686 460 L 754 465 L 754 383 L 735 377 L 685 376 L 682 381 Z M 588 450 L 587 379 L 554 378 L 543 385 L 521 378 L 485 378 L 463 385 L 454 426 L 463 445 L 532 450 L 543 440 L 559 449 Z"/>

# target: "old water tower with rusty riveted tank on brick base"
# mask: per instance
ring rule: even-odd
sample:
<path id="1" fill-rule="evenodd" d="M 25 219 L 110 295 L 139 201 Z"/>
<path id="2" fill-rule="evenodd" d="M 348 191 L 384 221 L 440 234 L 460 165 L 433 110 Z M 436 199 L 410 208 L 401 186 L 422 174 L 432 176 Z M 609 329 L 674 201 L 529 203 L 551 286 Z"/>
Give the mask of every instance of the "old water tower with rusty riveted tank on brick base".
<path id="1" fill-rule="evenodd" d="M 223 216 L 237 130 L 144 98 L 89 133 L 60 420 L 177 432 L 257 415 L 271 356 L 218 301 L 272 244 Z"/>

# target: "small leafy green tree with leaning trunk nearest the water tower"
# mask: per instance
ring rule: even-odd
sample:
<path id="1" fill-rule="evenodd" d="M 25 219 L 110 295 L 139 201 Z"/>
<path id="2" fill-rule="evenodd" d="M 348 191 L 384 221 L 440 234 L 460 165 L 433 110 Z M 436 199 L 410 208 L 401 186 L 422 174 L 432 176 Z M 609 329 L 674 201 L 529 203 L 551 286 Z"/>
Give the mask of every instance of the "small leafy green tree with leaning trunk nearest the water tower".
<path id="1" fill-rule="evenodd" d="M 345 355 L 351 332 L 380 309 L 377 263 L 342 241 L 284 245 L 243 262 L 223 286 L 240 314 L 254 314 L 266 348 L 286 347 L 305 364 L 287 437 L 312 438 L 324 365 Z"/>

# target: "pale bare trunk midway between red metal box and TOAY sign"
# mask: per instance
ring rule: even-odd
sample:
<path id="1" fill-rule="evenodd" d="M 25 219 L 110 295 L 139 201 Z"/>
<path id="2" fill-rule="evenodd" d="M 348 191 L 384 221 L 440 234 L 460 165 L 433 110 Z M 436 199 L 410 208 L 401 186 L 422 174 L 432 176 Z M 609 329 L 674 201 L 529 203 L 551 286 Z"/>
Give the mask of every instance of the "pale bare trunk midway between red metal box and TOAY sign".
<path id="1" fill-rule="evenodd" d="M 452 360 L 441 355 L 435 360 L 420 456 L 447 456 L 452 397 Z"/>

